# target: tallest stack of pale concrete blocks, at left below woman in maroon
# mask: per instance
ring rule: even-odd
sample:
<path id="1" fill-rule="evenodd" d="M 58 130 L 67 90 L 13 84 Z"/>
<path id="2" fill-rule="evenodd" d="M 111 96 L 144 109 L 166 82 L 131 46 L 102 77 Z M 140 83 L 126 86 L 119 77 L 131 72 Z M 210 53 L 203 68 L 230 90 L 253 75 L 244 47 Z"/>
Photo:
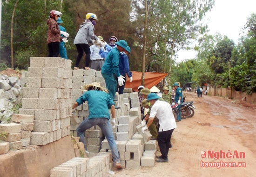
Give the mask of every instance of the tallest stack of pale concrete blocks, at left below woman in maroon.
<path id="1" fill-rule="evenodd" d="M 31 57 L 22 80 L 20 114 L 34 115 L 30 145 L 46 145 L 70 133 L 71 60 Z"/>

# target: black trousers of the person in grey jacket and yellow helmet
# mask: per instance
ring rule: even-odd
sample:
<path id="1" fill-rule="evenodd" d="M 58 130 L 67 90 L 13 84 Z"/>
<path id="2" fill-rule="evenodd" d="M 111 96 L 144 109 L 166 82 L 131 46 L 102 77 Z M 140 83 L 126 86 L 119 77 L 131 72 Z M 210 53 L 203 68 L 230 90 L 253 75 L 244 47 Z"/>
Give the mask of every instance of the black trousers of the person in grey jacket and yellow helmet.
<path id="1" fill-rule="evenodd" d="M 75 44 L 76 50 L 78 52 L 78 55 L 76 57 L 75 60 L 75 67 L 79 66 L 79 63 L 81 61 L 81 58 L 84 55 L 85 52 L 85 67 L 89 67 L 90 66 L 90 58 L 91 58 L 91 51 L 90 51 L 90 47 L 88 44 Z"/>

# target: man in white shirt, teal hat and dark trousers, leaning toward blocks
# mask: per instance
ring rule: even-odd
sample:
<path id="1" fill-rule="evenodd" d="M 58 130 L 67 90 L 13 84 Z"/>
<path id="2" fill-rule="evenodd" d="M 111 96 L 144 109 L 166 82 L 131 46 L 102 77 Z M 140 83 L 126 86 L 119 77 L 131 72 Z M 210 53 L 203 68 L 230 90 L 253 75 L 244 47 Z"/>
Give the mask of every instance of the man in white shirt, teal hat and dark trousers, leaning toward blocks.
<path id="1" fill-rule="evenodd" d="M 162 155 L 157 157 L 156 162 L 168 162 L 170 139 L 177 125 L 172 113 L 172 107 L 168 102 L 158 100 L 159 98 L 160 97 L 155 93 L 148 95 L 147 100 L 153 106 L 151 107 L 148 124 L 142 127 L 141 131 L 144 132 L 148 129 L 148 126 L 152 124 L 155 116 L 158 118 L 160 127 L 157 141 Z"/>

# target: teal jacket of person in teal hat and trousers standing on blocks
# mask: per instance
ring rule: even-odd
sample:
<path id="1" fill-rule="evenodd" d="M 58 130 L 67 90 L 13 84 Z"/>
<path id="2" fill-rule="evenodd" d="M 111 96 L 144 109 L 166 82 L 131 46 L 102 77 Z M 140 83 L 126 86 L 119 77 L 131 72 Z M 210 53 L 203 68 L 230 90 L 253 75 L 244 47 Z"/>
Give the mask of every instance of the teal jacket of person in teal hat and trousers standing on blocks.
<path id="1" fill-rule="evenodd" d="M 119 72 L 119 58 L 120 58 L 120 52 L 118 49 L 115 47 L 112 49 L 106 59 L 104 64 L 101 67 L 101 73 L 104 74 L 115 74 L 115 76 L 119 77 L 120 72 Z"/>

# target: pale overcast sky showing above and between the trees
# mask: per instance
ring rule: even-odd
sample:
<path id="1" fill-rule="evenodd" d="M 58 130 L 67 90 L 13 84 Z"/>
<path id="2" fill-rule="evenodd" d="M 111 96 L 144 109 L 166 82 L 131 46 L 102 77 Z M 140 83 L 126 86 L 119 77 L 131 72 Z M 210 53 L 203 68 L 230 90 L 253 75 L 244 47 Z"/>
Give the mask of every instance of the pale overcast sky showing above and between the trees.
<path id="1" fill-rule="evenodd" d="M 208 34 L 219 32 L 237 44 L 241 37 L 239 33 L 252 13 L 256 13 L 256 0 L 215 0 L 215 6 L 205 17 L 210 30 Z M 178 55 L 176 62 L 181 62 L 194 58 L 196 52 L 178 51 Z"/>

